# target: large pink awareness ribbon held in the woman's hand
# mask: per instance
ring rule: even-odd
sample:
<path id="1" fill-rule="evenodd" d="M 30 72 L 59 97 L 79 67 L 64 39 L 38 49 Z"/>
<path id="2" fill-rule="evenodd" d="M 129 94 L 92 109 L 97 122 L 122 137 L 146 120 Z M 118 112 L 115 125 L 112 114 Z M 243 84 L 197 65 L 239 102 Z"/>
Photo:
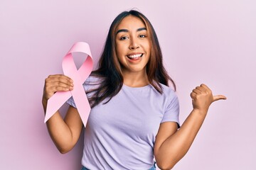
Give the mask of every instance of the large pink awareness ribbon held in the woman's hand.
<path id="1" fill-rule="evenodd" d="M 87 55 L 85 62 L 82 63 L 79 69 L 75 66 L 72 55 L 73 52 L 82 52 Z M 57 91 L 48 99 L 45 123 L 66 101 L 68 101 L 68 98 L 73 96 L 82 123 L 86 126 L 91 108 L 82 84 L 92 72 L 93 63 L 91 56 L 90 47 L 86 42 L 76 42 L 68 51 L 67 55 L 65 55 L 62 63 L 63 72 L 66 76 L 73 79 L 74 87 L 72 91 Z"/>

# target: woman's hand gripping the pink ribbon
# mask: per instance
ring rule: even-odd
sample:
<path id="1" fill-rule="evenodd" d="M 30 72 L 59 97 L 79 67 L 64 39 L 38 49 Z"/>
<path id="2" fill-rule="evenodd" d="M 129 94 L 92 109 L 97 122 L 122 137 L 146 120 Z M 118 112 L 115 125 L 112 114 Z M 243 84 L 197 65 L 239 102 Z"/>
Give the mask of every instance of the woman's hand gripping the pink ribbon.
<path id="1" fill-rule="evenodd" d="M 43 104 L 57 91 L 73 90 L 73 80 L 63 74 L 50 75 L 46 78 L 43 88 Z"/>

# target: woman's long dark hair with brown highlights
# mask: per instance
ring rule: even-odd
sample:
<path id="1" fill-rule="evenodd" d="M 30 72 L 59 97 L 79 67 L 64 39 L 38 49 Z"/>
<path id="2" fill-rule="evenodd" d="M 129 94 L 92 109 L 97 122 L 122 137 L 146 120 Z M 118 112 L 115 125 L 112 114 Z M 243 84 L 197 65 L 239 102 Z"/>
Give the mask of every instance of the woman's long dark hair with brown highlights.
<path id="1" fill-rule="evenodd" d="M 122 88 L 123 77 L 121 65 L 117 59 L 115 39 L 117 26 L 119 26 L 119 23 L 123 18 L 130 15 L 139 18 L 145 24 L 149 35 L 151 55 L 149 57 L 149 62 L 146 64 L 146 74 L 149 79 L 149 83 L 154 86 L 156 91 L 160 94 L 163 93 L 160 83 L 169 86 L 169 81 L 171 81 L 171 84 L 173 84 L 174 89 L 176 90 L 174 81 L 169 77 L 166 69 L 164 68 L 161 48 L 153 26 L 146 16 L 139 11 L 124 11 L 114 18 L 107 34 L 107 40 L 100 57 L 98 69 L 93 71 L 91 74 L 92 76 L 99 77 L 102 80 L 99 82 L 96 89 L 87 91 L 87 93 L 94 92 L 94 94 L 89 98 L 91 107 L 96 106 L 106 98 L 107 101 L 105 103 L 107 103 L 113 96 L 117 95 Z"/>

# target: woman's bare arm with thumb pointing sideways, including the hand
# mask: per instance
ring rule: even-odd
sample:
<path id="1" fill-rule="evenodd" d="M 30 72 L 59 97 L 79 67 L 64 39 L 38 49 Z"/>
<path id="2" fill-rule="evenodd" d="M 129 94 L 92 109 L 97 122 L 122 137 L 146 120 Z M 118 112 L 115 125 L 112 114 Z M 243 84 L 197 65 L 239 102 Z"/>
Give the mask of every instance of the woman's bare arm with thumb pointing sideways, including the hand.
<path id="1" fill-rule="evenodd" d="M 211 103 L 225 96 L 213 96 L 208 86 L 201 84 L 191 93 L 193 111 L 183 125 L 177 130 L 176 123 L 161 123 L 156 135 L 154 155 L 160 169 L 172 169 L 174 165 L 188 152 L 196 134 L 206 118 Z"/>

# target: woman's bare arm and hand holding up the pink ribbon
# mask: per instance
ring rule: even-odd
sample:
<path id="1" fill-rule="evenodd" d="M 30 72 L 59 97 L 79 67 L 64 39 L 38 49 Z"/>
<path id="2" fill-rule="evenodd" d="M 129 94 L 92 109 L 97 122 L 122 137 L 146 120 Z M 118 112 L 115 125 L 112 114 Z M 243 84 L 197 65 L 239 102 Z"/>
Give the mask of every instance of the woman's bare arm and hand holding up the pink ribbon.
<path id="1" fill-rule="evenodd" d="M 64 75 L 53 75 L 46 79 L 43 90 L 43 109 L 46 113 L 47 101 L 56 91 L 69 91 L 73 89 L 73 81 Z M 48 132 L 58 150 L 64 154 L 69 152 L 78 142 L 82 132 L 82 120 L 76 108 L 70 106 L 65 115 L 61 117 L 57 111 L 47 122 Z"/>

